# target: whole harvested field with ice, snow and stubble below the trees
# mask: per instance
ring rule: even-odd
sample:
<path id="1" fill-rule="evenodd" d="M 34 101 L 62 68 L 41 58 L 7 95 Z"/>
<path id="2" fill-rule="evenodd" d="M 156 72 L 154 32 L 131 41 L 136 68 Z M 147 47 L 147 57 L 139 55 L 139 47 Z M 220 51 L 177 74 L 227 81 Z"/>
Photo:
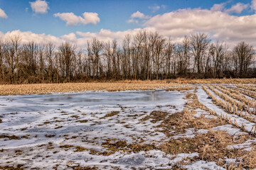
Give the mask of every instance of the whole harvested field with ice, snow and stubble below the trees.
<path id="1" fill-rule="evenodd" d="M 255 82 L 0 85 L 0 169 L 256 169 Z"/>

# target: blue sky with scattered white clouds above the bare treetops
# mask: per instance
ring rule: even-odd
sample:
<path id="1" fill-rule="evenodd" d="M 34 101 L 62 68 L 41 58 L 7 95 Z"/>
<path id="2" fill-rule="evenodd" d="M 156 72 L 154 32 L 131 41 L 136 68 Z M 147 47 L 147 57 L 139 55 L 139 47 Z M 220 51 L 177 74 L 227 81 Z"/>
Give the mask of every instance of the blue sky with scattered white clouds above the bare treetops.
<path id="1" fill-rule="evenodd" d="M 0 0 L 0 38 L 19 35 L 85 47 L 87 40 L 122 41 L 138 31 L 157 31 L 174 42 L 204 32 L 213 41 L 256 46 L 256 0 Z"/>

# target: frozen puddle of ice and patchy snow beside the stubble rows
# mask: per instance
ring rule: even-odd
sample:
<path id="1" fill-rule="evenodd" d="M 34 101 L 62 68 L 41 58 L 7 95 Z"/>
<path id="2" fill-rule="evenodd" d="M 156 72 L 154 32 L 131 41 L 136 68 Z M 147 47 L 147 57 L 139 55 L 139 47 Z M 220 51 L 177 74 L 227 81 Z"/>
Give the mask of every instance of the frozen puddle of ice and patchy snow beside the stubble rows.
<path id="1" fill-rule="evenodd" d="M 142 120 L 152 111 L 183 111 L 184 97 L 178 91 L 0 96 L 0 165 L 171 168 L 171 156 L 157 150 L 95 153 L 110 152 L 105 143 L 158 145 L 168 140 L 157 131 L 160 122 Z"/>

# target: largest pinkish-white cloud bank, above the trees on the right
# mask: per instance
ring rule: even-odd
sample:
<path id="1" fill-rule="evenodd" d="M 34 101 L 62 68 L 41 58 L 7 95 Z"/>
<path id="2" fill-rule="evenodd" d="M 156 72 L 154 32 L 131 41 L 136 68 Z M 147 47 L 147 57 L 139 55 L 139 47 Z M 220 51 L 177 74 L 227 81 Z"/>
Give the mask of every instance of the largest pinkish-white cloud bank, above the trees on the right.
<path id="1" fill-rule="evenodd" d="M 146 21 L 144 26 L 174 38 L 201 31 L 209 33 L 215 40 L 225 40 L 230 43 L 245 40 L 256 45 L 256 14 L 231 16 L 222 11 L 181 9 L 154 16 Z"/>

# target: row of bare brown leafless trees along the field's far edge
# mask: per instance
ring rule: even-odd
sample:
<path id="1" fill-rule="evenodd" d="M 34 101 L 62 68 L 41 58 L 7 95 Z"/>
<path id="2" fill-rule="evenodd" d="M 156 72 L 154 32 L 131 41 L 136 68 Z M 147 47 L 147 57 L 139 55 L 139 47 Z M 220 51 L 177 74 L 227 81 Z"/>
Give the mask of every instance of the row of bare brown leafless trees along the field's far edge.
<path id="1" fill-rule="evenodd" d="M 0 41 L 1 84 L 256 77 L 252 45 L 239 42 L 230 49 L 206 33 L 174 43 L 157 32 L 140 31 L 122 42 L 92 38 L 81 50 L 70 42 L 57 47 L 21 42 L 18 35 Z"/>

